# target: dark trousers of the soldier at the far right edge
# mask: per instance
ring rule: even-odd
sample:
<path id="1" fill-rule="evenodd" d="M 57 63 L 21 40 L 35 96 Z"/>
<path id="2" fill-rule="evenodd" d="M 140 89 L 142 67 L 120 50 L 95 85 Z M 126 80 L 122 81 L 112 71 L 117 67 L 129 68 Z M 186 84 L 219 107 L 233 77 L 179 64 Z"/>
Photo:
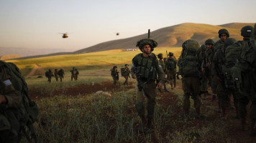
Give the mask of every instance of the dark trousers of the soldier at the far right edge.
<path id="1" fill-rule="evenodd" d="M 250 119 L 256 120 L 256 97 L 242 95 L 239 97 L 239 116 L 244 118 L 247 116 L 247 104 L 251 101 Z"/>

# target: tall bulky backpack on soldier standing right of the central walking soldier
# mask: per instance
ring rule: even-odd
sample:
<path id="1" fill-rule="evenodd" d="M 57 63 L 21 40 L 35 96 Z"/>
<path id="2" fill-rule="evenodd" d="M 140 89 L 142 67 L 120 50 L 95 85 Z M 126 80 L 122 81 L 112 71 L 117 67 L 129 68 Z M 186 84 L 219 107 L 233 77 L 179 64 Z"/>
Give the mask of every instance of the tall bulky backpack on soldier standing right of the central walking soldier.
<path id="1" fill-rule="evenodd" d="M 198 51 L 200 46 L 198 41 L 189 39 L 184 41 L 182 45 L 182 54 L 179 64 L 179 73 L 182 77 L 198 77 L 200 76 Z"/>

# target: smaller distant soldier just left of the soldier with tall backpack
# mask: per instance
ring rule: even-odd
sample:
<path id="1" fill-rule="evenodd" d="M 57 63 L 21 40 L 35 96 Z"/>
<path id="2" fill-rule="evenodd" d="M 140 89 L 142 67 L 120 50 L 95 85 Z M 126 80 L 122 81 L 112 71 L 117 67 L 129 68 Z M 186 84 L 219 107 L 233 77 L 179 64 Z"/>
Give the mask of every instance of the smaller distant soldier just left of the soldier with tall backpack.
<path id="1" fill-rule="evenodd" d="M 173 56 L 172 52 L 169 52 L 168 59 L 166 61 L 166 72 L 168 74 L 168 80 L 170 82 L 171 89 L 175 89 L 176 87 L 176 64 L 177 59 Z"/>

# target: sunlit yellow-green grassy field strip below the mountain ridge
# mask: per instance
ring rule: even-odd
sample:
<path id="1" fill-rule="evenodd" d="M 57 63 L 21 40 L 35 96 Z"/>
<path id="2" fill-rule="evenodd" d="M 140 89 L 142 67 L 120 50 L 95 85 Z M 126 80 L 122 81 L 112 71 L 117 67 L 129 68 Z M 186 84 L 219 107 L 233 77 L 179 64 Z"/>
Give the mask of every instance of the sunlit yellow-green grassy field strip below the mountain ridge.
<path id="1" fill-rule="evenodd" d="M 166 50 L 172 51 L 175 56 L 180 55 L 181 48 L 155 48 L 154 53 L 162 53 L 164 57 L 166 56 Z M 132 64 L 132 58 L 141 53 L 141 51 L 123 51 L 110 50 L 110 51 L 98 51 L 87 54 L 70 54 L 62 56 L 47 56 L 35 59 L 19 59 L 19 60 L 9 60 L 8 62 L 13 62 L 17 64 L 19 69 L 21 69 L 23 75 L 27 75 L 29 71 L 32 70 L 35 64 L 40 66 L 42 69 L 64 69 L 69 71 L 75 66 L 78 70 L 88 70 L 88 69 L 104 69 L 107 67 L 118 65 L 123 66 L 124 64 Z"/>

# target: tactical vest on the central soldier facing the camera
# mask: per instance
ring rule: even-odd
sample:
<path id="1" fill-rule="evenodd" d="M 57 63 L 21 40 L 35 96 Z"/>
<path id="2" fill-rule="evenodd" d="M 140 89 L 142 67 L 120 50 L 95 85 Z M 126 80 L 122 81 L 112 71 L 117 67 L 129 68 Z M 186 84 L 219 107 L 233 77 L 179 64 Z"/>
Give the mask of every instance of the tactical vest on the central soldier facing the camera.
<path id="1" fill-rule="evenodd" d="M 137 54 L 137 56 L 135 56 L 135 58 L 137 59 L 135 60 L 135 62 L 137 61 L 136 63 L 137 71 L 141 75 L 141 79 L 143 80 L 143 82 L 146 82 L 150 77 L 150 71 L 152 71 L 152 77 L 149 80 L 155 81 L 156 79 L 157 64 L 155 64 L 155 66 L 152 67 L 152 63 L 153 63 L 153 59 L 155 59 L 155 62 L 157 63 L 157 58 L 155 57 L 155 55 L 153 55 L 153 57 L 151 55 L 144 57 L 143 54 Z"/>

